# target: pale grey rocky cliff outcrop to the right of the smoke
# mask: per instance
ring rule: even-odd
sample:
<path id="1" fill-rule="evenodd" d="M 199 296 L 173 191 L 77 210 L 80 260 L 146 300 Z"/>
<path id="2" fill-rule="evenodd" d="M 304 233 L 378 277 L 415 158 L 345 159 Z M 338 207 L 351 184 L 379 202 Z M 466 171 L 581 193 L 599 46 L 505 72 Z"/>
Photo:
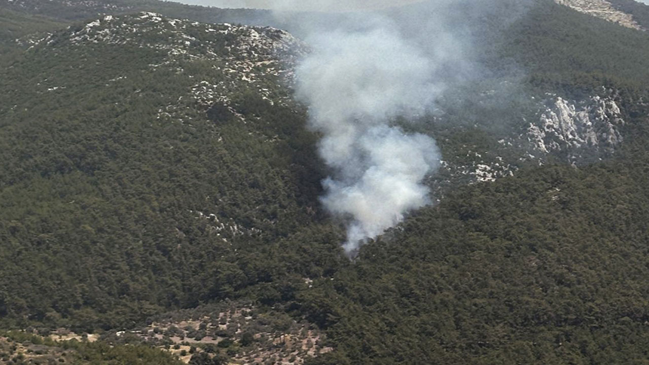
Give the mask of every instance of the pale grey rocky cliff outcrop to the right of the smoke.
<path id="1" fill-rule="evenodd" d="M 467 144 L 455 156 L 446 155 L 434 186 L 496 181 L 550 158 L 588 164 L 610 157 L 624 142 L 624 112 L 610 90 L 578 100 L 548 94 L 536 105 L 535 117 L 525 122 L 522 132 L 503 136 L 499 147 Z"/>

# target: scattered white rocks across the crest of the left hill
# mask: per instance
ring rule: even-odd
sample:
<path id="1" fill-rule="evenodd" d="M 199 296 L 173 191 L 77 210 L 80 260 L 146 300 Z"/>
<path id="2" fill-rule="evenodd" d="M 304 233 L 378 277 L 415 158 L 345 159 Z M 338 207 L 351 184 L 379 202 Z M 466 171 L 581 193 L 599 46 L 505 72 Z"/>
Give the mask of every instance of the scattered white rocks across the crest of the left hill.
<path id="1" fill-rule="evenodd" d="M 158 119 L 180 121 L 188 108 L 198 107 L 207 112 L 214 105 L 225 107 L 232 116 L 245 121 L 230 100 L 232 94 L 243 88 L 254 90 L 269 105 L 285 104 L 289 93 L 278 95 L 278 83 L 293 81 L 293 67 L 306 52 L 306 45 L 280 29 L 198 23 L 152 12 L 107 15 L 63 32 L 18 41 L 30 45 L 30 49 L 108 44 L 163 53 L 164 60 L 149 65 L 152 69 L 167 68 L 196 80 L 188 90 L 188 98 L 159 111 Z M 214 72 L 191 75 L 183 68 L 186 62 L 206 62 Z"/>

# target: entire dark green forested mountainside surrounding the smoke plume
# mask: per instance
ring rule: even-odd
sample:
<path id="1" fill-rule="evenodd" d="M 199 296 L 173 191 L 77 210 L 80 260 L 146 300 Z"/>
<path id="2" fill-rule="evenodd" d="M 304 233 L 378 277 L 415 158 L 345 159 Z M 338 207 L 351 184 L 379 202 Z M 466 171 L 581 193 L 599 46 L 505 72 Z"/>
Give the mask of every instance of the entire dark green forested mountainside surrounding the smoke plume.
<path id="1" fill-rule="evenodd" d="M 308 45 L 215 24 L 267 13 L 3 2 L 1 361 L 645 364 L 649 35 L 469 5 L 480 72 L 395 120 L 439 142 L 437 203 L 350 260 L 292 98 Z M 535 147 L 567 121 L 593 145 Z"/>

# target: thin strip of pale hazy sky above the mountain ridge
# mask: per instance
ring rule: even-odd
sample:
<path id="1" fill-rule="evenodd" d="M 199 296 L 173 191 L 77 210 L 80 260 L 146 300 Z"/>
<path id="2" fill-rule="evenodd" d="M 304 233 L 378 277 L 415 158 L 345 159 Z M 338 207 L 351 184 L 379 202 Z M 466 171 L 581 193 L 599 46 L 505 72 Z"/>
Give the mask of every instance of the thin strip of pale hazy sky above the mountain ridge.
<path id="1" fill-rule="evenodd" d="M 177 0 L 180 3 L 191 5 L 216 6 L 219 8 L 280 8 L 282 10 L 323 10 L 317 0 Z M 417 3 L 422 0 L 335 0 L 328 1 L 329 5 L 335 3 L 336 10 L 359 10 L 370 8 L 385 8 Z M 290 3 L 290 6 L 287 6 Z M 329 6 L 328 6 L 329 7 Z"/>

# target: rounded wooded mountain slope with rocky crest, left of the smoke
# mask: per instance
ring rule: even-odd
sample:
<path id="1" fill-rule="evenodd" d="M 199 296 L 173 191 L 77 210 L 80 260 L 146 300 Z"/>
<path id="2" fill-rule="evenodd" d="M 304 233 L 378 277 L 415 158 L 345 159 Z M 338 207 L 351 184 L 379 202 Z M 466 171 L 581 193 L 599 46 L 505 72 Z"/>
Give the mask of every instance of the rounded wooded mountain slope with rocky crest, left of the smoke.
<path id="1" fill-rule="evenodd" d="M 289 42 L 146 13 L 4 69 L 3 314 L 109 328 L 260 280 L 245 252 L 311 222 L 318 193 L 312 137 L 275 86 Z M 227 288 L 199 284 L 219 275 Z"/>

